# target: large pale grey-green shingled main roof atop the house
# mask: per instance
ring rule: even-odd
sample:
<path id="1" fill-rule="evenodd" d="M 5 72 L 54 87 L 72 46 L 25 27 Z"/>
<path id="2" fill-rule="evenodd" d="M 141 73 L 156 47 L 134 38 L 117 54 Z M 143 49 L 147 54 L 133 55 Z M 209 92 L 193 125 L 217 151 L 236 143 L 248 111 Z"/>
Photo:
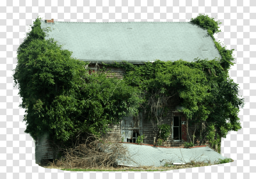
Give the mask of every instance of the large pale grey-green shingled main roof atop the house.
<path id="1" fill-rule="evenodd" d="M 191 22 L 59 22 L 41 21 L 54 28 L 54 38 L 72 57 L 91 62 L 141 63 L 148 61 L 194 61 L 221 58 L 212 38 Z"/>

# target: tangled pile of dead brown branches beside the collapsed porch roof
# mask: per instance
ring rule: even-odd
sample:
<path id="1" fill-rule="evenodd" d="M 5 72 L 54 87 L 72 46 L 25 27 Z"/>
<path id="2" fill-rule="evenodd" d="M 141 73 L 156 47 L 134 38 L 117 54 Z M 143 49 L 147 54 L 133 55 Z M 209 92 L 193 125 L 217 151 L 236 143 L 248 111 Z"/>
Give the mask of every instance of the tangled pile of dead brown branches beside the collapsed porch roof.
<path id="1" fill-rule="evenodd" d="M 79 141 L 79 140 L 78 140 Z M 81 144 L 73 148 L 62 149 L 64 159 L 56 164 L 65 168 L 102 169 L 117 167 L 117 160 L 127 158 L 127 149 L 118 142 L 109 142 L 106 138 L 90 135 Z"/>

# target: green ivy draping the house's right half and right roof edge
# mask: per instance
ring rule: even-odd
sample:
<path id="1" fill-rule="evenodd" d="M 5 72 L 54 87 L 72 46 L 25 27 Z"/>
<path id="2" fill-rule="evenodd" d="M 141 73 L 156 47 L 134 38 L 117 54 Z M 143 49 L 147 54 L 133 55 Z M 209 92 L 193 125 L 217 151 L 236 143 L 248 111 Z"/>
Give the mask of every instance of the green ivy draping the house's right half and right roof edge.
<path id="1" fill-rule="evenodd" d="M 244 99 L 239 98 L 238 84 L 228 75 L 230 66 L 234 64 L 234 49 L 228 50 L 215 41 L 213 34 L 220 32 L 219 21 L 199 14 L 191 22 L 207 29 L 221 59 L 196 58 L 194 62 L 163 62 L 156 59 L 144 65 L 127 62 L 104 65 L 125 69 L 124 80 L 141 90 L 144 107 L 158 125 L 162 124 L 161 118 L 166 109 L 179 104 L 182 109 L 178 110 L 196 126 L 200 144 L 209 140 L 212 147 L 219 151 L 221 137 L 226 138 L 229 131 L 241 129 L 237 115 L 239 107 L 244 106 Z M 152 104 L 155 105 L 154 110 Z M 196 136 L 191 137 L 194 143 Z"/>

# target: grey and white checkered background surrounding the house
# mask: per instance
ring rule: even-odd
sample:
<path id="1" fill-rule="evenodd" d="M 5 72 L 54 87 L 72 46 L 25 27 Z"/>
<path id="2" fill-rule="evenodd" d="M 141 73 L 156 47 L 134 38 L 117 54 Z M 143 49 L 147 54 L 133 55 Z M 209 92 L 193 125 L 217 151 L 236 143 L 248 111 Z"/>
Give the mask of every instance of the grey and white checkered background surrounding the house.
<path id="1" fill-rule="evenodd" d="M 1 1 L 0 178 L 255 178 L 255 6 L 253 0 Z M 227 49 L 235 49 L 236 64 L 229 74 L 239 84 L 246 105 L 239 112 L 242 129 L 229 132 L 221 143 L 221 153 L 234 162 L 164 172 L 68 172 L 35 164 L 35 143 L 24 133 L 25 109 L 18 107 L 22 99 L 14 87 L 11 70 L 17 64 L 16 50 L 38 15 L 43 19 L 72 22 L 188 22 L 199 13 L 220 20 L 222 32 L 215 35 L 216 41 L 227 45 Z"/>

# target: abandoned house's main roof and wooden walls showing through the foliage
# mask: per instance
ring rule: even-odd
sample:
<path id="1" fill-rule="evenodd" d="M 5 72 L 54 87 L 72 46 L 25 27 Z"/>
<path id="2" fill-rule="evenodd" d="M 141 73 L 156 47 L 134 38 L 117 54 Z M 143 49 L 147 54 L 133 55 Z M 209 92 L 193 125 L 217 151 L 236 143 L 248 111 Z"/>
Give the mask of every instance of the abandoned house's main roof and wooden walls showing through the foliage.
<path id="1" fill-rule="evenodd" d="M 195 58 L 221 58 L 207 30 L 190 22 L 58 22 L 42 20 L 41 28 L 54 28 L 46 38 L 54 38 L 63 44 L 63 49 L 72 51 L 72 57 L 90 62 L 91 72 L 101 67 L 101 62 L 114 63 L 127 61 L 143 65 L 144 62 L 184 61 L 193 62 Z M 109 70 L 109 69 L 107 69 Z M 110 68 L 109 76 L 122 78 L 122 69 Z M 164 146 L 182 146 L 187 141 L 187 131 L 193 136 L 194 128 L 186 124 L 186 118 L 170 108 L 162 118 L 163 124 L 171 126 L 169 138 Z M 109 126 L 110 141 L 135 143 L 144 134 L 143 143 L 154 144 L 158 129 L 156 123 L 147 119 L 146 113 L 137 117 L 125 117 L 118 125 Z M 187 129 L 188 128 L 188 129 Z M 53 159 L 47 140 L 36 141 L 36 159 Z"/>

